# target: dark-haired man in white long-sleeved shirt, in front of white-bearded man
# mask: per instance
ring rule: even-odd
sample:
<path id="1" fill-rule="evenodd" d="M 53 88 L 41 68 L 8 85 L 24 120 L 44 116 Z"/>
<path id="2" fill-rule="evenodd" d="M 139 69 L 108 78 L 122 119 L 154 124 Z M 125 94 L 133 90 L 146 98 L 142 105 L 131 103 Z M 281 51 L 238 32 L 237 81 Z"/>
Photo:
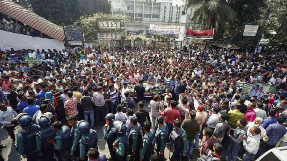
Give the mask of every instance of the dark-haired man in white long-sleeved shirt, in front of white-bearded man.
<path id="1" fill-rule="evenodd" d="M 256 156 L 260 144 L 260 133 L 259 127 L 251 127 L 247 131 L 247 136 L 243 136 L 243 148 L 246 152 L 243 154 L 242 160 L 250 161 Z"/>

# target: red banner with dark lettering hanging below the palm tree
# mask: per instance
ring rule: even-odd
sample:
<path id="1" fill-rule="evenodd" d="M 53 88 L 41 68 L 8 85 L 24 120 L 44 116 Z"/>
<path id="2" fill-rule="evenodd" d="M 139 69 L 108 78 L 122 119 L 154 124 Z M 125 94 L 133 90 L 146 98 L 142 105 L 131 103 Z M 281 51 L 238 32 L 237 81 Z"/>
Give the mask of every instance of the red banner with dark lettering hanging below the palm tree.
<path id="1" fill-rule="evenodd" d="M 214 28 L 210 30 L 192 30 L 186 29 L 186 37 L 194 39 L 213 39 Z"/>

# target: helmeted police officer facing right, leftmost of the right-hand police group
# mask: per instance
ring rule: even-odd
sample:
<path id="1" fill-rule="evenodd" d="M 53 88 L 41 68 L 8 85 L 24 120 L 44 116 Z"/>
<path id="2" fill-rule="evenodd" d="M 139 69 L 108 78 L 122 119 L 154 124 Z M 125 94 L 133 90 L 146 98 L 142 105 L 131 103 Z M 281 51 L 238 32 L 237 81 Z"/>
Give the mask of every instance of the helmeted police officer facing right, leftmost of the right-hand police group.
<path id="1" fill-rule="evenodd" d="M 110 157 L 108 157 L 108 160 L 111 160 L 111 159 L 117 160 L 116 153 L 113 148 L 113 143 L 117 139 L 117 130 L 114 127 L 115 116 L 114 114 L 109 113 L 106 115 L 105 119 L 106 119 L 106 124 L 104 128 L 104 138 L 105 140 L 107 140 L 108 148 L 109 148 L 110 155 L 111 155 Z"/>

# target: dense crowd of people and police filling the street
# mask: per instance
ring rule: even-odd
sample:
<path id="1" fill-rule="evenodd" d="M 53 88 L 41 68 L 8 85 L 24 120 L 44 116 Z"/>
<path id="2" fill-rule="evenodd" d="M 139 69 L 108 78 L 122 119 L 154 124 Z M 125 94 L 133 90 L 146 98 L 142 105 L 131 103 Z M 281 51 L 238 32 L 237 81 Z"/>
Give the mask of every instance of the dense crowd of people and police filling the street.
<path id="1" fill-rule="evenodd" d="M 171 161 L 195 159 L 193 150 L 199 160 L 235 161 L 241 149 L 250 161 L 287 146 L 285 51 L 11 48 L 0 56 L 0 124 L 28 161 L 148 161 L 154 152 L 164 160 L 166 144 Z M 247 83 L 277 91 L 248 98 Z M 150 100 L 146 85 L 164 92 Z"/>

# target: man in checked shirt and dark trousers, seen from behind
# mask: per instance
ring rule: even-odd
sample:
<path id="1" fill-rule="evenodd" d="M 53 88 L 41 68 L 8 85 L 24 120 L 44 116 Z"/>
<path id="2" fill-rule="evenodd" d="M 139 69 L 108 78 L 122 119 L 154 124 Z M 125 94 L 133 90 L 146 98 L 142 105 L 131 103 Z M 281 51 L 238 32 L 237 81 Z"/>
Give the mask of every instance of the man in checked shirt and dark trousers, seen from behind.
<path id="1" fill-rule="evenodd" d="M 105 123 L 105 116 L 107 114 L 105 103 L 106 101 L 112 101 L 112 99 L 105 99 L 102 92 L 103 88 L 98 86 L 97 92 L 93 95 L 96 106 L 96 124 L 98 129 Z"/>

